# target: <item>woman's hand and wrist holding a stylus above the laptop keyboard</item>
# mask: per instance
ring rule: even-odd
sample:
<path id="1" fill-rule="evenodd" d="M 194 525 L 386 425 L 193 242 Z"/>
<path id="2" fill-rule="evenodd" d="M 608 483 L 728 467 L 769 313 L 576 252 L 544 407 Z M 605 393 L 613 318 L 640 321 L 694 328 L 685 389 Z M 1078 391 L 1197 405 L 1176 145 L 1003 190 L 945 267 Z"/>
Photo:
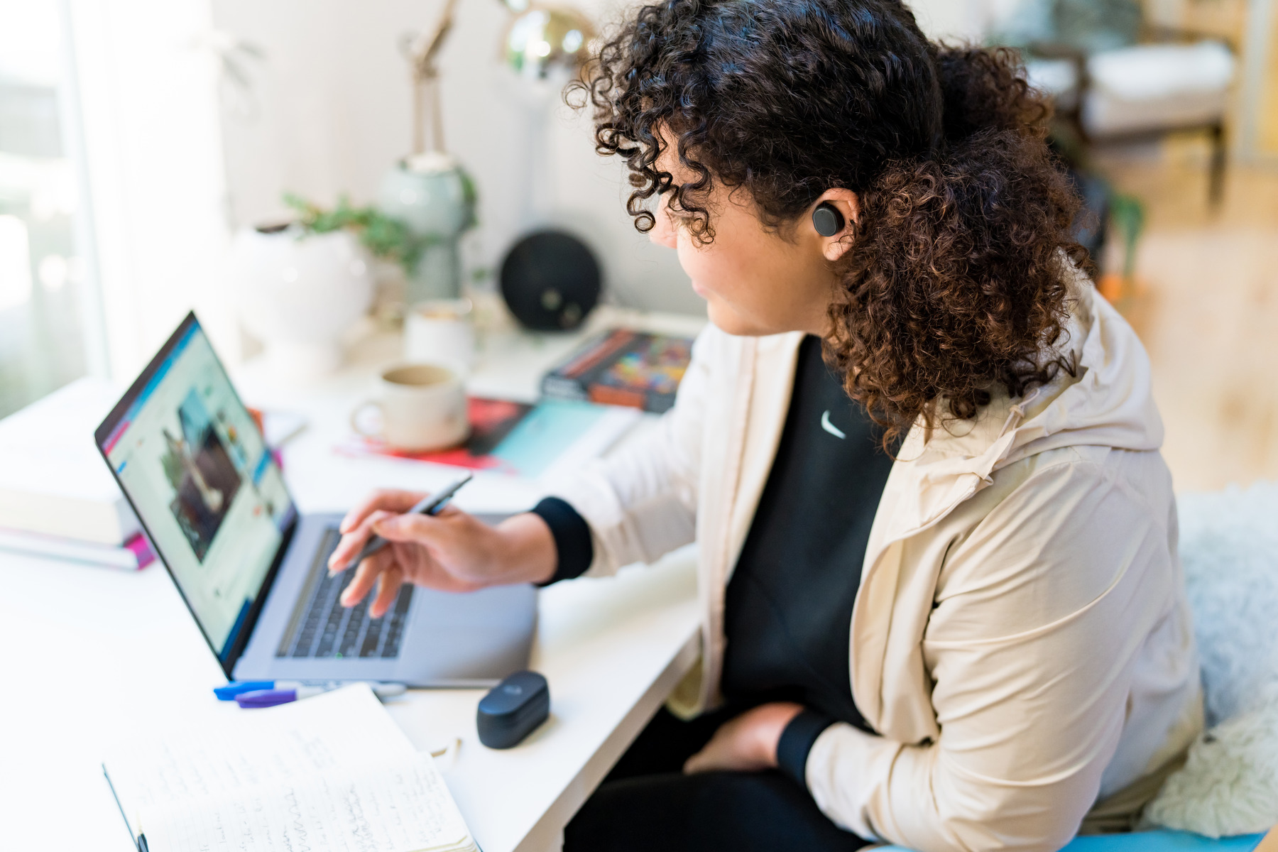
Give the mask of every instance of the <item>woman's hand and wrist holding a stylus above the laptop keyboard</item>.
<path id="1" fill-rule="evenodd" d="M 514 582 L 544 582 L 555 574 L 557 552 L 550 528 L 525 512 L 488 526 L 465 512 L 446 507 L 438 515 L 404 515 L 424 493 L 373 492 L 341 521 L 341 542 L 328 557 L 332 572 L 355 567 L 341 594 L 353 607 L 377 586 L 369 616 L 386 614 L 404 582 L 442 591 L 473 591 Z M 386 547 L 358 566 L 348 562 L 373 535 Z"/>

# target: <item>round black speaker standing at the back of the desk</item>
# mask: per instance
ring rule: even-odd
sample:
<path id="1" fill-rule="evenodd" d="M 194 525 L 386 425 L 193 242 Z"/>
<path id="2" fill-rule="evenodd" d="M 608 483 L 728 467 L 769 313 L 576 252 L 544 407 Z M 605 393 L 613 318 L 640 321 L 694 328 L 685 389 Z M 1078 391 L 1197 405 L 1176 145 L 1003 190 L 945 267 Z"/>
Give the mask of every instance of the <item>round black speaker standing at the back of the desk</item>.
<path id="1" fill-rule="evenodd" d="M 576 328 L 599 301 L 599 263 L 564 231 L 537 231 L 501 262 L 501 295 L 515 319 L 537 331 Z"/>

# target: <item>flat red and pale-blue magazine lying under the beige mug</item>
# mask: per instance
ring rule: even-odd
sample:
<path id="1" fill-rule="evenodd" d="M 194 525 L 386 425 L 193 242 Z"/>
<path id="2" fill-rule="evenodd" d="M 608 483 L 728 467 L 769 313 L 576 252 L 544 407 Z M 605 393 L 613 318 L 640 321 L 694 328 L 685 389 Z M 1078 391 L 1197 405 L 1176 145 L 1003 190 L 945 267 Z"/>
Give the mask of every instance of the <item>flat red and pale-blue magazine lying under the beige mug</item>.
<path id="1" fill-rule="evenodd" d="M 565 400 L 529 405 L 470 397 L 466 404 L 470 437 L 459 447 L 413 452 L 353 434 L 337 451 L 537 479 L 607 452 L 640 416 L 633 409 Z"/>

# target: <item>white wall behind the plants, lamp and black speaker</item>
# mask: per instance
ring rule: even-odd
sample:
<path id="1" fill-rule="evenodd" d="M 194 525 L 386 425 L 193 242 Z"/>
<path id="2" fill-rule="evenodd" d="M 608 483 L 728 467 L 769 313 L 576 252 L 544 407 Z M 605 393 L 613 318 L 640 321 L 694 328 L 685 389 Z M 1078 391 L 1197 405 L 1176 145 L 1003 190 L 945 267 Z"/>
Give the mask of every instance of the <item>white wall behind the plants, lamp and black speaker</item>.
<path id="1" fill-rule="evenodd" d="M 409 75 L 403 33 L 433 24 L 440 0 L 212 0 L 215 26 L 261 46 L 245 98 L 224 84 L 230 218 L 281 212 L 293 190 L 322 202 L 371 201 L 381 175 L 408 153 Z M 611 0 L 579 4 L 598 19 Z M 535 222 L 567 224 L 593 244 L 612 298 L 651 309 L 704 312 L 674 252 L 651 245 L 625 213 L 622 164 L 598 157 L 585 116 L 544 107 L 547 144 L 519 80 L 498 63 L 509 13 L 497 0 L 460 0 L 440 63 L 446 144 L 475 176 L 481 225 L 469 252 L 489 268 Z M 556 106 L 557 105 L 557 106 Z M 530 215 L 530 152 L 548 188 Z"/>

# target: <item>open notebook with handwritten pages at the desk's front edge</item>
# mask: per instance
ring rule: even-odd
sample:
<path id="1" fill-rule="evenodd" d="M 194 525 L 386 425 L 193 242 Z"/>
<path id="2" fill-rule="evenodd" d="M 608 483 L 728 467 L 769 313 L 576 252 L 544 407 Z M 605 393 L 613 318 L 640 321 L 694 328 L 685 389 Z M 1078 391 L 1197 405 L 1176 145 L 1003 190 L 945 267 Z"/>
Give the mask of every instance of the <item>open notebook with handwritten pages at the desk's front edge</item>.
<path id="1" fill-rule="evenodd" d="M 477 849 L 431 755 L 363 683 L 121 745 L 102 770 L 150 852 Z"/>

